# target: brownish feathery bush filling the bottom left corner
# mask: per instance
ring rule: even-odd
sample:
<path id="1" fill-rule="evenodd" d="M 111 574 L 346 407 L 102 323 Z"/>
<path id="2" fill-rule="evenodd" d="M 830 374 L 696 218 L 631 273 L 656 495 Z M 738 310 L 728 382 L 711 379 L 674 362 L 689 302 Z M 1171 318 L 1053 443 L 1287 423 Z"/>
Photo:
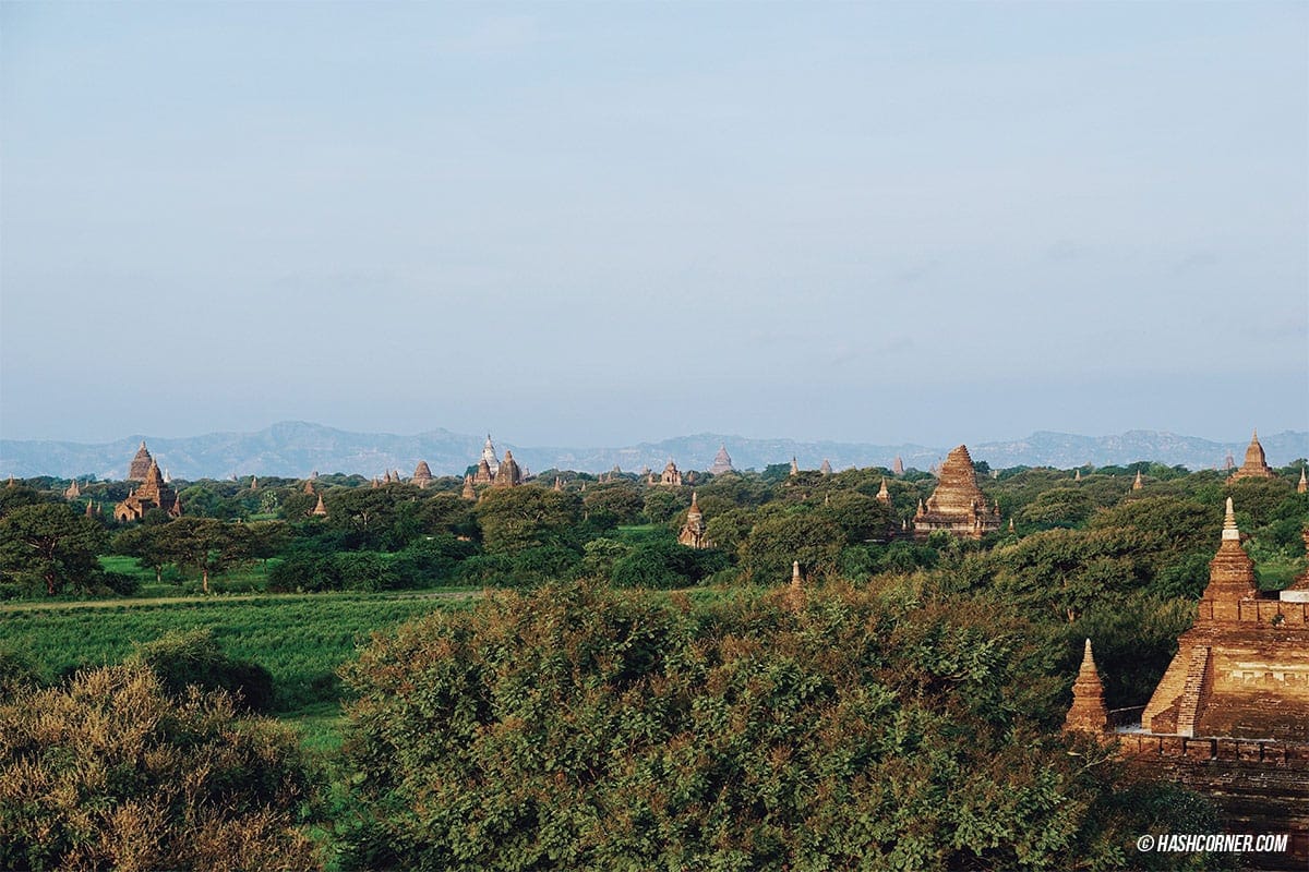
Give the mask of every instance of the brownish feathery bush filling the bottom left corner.
<path id="1" fill-rule="evenodd" d="M 314 869 L 295 731 L 143 667 L 0 701 L 0 868 Z"/>

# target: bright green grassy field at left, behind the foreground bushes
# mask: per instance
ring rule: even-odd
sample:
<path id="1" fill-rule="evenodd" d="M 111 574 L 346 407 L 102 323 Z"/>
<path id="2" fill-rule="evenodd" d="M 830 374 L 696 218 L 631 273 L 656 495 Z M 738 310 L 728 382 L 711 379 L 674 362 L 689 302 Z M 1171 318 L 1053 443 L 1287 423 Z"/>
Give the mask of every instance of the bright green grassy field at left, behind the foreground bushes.
<path id="1" fill-rule="evenodd" d="M 168 630 L 207 628 L 233 658 L 274 677 L 276 707 L 335 706 L 336 668 L 372 631 L 437 609 L 467 608 L 469 594 L 318 594 L 173 600 L 25 603 L 0 609 L 0 648 L 33 663 L 46 680 L 127 658 Z M 318 711 L 317 709 L 314 711 Z M 319 713 L 322 714 L 322 713 Z"/>

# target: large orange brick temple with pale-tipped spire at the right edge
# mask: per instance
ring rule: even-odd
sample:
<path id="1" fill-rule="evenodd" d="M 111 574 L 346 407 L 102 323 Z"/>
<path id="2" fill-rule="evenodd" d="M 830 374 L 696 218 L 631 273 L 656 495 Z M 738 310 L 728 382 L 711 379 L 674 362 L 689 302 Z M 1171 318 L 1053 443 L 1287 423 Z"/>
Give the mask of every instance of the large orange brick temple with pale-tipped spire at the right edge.
<path id="1" fill-rule="evenodd" d="M 1109 726 L 1098 686 L 1088 642 L 1066 729 L 1105 731 L 1152 777 L 1210 795 L 1229 833 L 1291 835 L 1288 854 L 1244 862 L 1309 868 L 1309 571 L 1261 592 L 1230 499 L 1195 624 L 1140 724 Z"/>

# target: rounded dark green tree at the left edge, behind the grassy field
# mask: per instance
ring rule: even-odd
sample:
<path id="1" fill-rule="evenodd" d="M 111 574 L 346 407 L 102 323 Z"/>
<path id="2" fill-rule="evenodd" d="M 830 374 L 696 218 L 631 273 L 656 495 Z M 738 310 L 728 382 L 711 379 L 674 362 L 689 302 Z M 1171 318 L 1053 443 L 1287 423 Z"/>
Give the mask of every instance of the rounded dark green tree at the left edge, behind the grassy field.
<path id="1" fill-rule="evenodd" d="M 67 503 L 20 505 L 0 519 L 0 583 L 27 591 L 45 586 L 48 596 L 64 587 L 90 590 L 107 539 L 99 522 Z"/>

